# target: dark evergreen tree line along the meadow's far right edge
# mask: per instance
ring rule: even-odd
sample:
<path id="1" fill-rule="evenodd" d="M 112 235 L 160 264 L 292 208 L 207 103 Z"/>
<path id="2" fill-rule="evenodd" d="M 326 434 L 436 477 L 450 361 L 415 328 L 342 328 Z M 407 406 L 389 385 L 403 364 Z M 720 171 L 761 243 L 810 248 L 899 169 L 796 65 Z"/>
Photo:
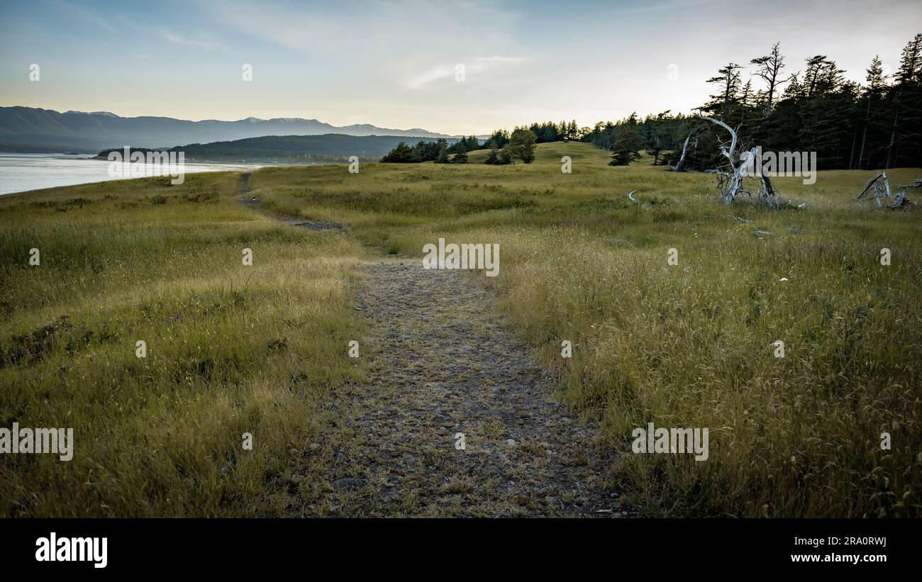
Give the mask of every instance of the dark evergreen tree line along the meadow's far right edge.
<path id="1" fill-rule="evenodd" d="M 689 114 L 663 111 L 641 119 L 636 112 L 618 122 L 578 127 L 571 122 L 536 122 L 512 134 L 493 132 L 480 141 L 463 137 L 417 145 L 401 143 L 382 161 L 467 163 L 467 152 L 489 149 L 489 164 L 534 159 L 534 145 L 581 141 L 611 152 L 612 165 L 627 165 L 645 151 L 655 165 L 713 169 L 720 163 L 723 136 L 702 116 L 739 128 L 741 141 L 764 151 L 815 151 L 823 169 L 887 169 L 922 166 L 922 34 L 906 43 L 899 68 L 888 75 L 879 56 L 871 59 L 865 83 L 823 54 L 792 67 L 775 43 L 747 65 L 727 63 L 707 83 L 709 100 Z M 744 82 L 744 73 L 749 75 Z"/>

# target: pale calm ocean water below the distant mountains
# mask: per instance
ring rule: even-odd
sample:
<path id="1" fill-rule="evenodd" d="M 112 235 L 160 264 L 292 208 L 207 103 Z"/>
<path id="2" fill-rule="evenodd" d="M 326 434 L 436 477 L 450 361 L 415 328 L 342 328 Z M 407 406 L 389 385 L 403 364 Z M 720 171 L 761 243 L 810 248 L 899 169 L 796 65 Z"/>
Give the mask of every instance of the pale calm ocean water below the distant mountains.
<path id="1" fill-rule="evenodd" d="M 65 154 L 0 154 L 0 194 L 97 181 L 124 180 L 131 177 L 130 169 L 126 168 L 124 163 L 117 167 L 116 177 L 110 176 L 110 163 L 107 160 L 92 159 L 89 156 Z M 186 174 L 191 174 L 259 167 L 248 164 L 190 164 L 186 162 L 184 171 Z"/>

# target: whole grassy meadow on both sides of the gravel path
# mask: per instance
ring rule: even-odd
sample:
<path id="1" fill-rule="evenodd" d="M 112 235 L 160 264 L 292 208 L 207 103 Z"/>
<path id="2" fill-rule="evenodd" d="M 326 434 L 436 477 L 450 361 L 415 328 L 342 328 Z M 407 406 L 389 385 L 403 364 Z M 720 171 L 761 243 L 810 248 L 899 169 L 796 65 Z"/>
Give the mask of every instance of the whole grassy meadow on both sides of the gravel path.
<path id="1" fill-rule="evenodd" d="M 323 403 L 362 381 L 345 350 L 361 262 L 418 260 L 440 237 L 501 245 L 485 285 L 563 402 L 602 426 L 587 447 L 624 453 L 612 482 L 648 515 L 922 515 L 922 215 L 856 203 L 872 172 L 776 179 L 807 205 L 769 211 L 590 145 L 539 145 L 530 165 L 486 154 L 253 173 L 266 208 L 343 233 L 236 204 L 232 173 L 0 197 L 0 426 L 76 439 L 66 463 L 0 459 L 0 515 L 284 515 Z M 709 459 L 632 454 L 648 422 L 708 427 Z"/>

